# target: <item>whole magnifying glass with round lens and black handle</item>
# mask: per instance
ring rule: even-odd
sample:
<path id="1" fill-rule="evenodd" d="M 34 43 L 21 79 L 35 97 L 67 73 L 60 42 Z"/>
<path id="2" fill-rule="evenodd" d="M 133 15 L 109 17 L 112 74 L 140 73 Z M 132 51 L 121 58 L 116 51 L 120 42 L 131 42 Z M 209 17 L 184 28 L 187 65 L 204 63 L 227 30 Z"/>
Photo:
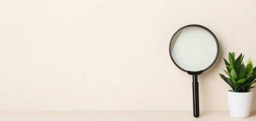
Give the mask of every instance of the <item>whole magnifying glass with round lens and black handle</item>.
<path id="1" fill-rule="evenodd" d="M 169 52 L 180 70 L 193 75 L 193 113 L 199 117 L 199 92 L 197 76 L 209 69 L 218 56 L 216 36 L 201 25 L 187 25 L 171 37 Z"/>

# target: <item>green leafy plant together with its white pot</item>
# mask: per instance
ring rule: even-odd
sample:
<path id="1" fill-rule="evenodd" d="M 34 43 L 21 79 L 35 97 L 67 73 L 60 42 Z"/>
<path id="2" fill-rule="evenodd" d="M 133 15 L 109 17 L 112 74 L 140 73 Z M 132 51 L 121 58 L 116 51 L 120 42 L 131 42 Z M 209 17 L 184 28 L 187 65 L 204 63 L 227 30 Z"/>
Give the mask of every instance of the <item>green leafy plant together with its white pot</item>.
<path id="1" fill-rule="evenodd" d="M 255 83 L 256 67 L 253 68 L 250 58 L 245 66 L 243 63 L 244 55 L 241 53 L 235 59 L 235 53 L 229 52 L 229 62 L 224 58 L 228 75 L 225 77 L 220 74 L 221 78 L 232 88 L 227 92 L 229 113 L 231 117 L 244 118 L 249 117 L 250 105 L 252 99 L 251 86 Z"/>

